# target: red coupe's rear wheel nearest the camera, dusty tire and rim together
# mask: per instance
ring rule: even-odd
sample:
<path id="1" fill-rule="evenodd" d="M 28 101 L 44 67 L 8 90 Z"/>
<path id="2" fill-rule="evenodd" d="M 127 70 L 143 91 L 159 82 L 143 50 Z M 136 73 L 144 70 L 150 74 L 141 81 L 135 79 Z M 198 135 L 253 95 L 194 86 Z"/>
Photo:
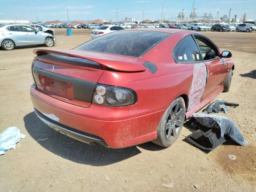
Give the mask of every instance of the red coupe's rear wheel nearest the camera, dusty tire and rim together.
<path id="1" fill-rule="evenodd" d="M 183 98 L 176 98 L 164 112 L 153 143 L 162 147 L 171 146 L 178 138 L 185 120 L 186 106 Z"/>

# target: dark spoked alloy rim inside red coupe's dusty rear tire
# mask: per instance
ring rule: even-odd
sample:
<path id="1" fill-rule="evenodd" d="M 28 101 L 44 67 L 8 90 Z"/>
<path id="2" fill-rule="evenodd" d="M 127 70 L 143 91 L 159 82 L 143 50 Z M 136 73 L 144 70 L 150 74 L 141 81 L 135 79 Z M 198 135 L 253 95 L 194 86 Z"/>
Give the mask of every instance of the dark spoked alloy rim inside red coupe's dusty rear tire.
<path id="1" fill-rule="evenodd" d="M 167 140 L 172 140 L 176 138 L 177 133 L 179 133 L 181 126 L 183 125 L 184 119 L 182 119 L 182 114 L 184 112 L 184 108 L 181 103 L 177 103 L 170 110 L 169 116 L 166 121 L 165 126 L 165 136 Z"/>

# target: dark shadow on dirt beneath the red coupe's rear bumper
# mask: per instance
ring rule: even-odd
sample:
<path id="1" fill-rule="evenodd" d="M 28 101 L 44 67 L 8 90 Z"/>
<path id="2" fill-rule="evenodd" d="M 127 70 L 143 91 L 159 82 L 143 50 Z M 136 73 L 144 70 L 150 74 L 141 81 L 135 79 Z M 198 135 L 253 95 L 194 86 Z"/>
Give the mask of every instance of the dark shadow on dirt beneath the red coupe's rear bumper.
<path id="1" fill-rule="evenodd" d="M 38 142 L 38 144 L 62 158 L 80 164 L 105 166 L 120 162 L 141 153 L 136 146 L 112 149 L 105 148 L 100 144 L 91 146 L 67 137 L 51 128 L 48 128 L 46 124 L 39 120 L 35 112 L 27 114 L 24 116 L 23 120 L 26 130 L 30 136 Z M 140 144 L 138 146 L 151 151 L 164 149 L 151 142 Z"/>

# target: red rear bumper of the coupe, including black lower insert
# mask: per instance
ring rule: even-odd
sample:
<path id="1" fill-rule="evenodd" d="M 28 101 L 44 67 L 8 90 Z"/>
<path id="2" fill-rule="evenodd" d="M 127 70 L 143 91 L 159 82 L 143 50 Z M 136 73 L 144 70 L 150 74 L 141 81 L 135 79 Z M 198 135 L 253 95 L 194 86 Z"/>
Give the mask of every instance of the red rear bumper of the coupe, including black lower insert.
<path id="1" fill-rule="evenodd" d="M 127 116 L 128 107 L 104 108 L 92 104 L 82 108 L 42 94 L 34 86 L 31 86 L 30 96 L 36 114 L 50 127 L 82 142 L 96 142 L 110 148 L 124 148 L 154 140 L 164 113 L 160 110 L 130 118 Z"/>

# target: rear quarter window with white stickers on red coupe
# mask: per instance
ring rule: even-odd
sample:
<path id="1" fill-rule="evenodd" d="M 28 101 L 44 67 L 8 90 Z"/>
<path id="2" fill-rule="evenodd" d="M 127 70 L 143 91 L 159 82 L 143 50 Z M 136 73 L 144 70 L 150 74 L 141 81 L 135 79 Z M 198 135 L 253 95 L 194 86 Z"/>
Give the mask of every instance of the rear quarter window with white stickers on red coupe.
<path id="1" fill-rule="evenodd" d="M 191 35 L 184 37 L 178 42 L 174 48 L 173 57 L 176 62 L 201 61 L 200 52 Z"/>

